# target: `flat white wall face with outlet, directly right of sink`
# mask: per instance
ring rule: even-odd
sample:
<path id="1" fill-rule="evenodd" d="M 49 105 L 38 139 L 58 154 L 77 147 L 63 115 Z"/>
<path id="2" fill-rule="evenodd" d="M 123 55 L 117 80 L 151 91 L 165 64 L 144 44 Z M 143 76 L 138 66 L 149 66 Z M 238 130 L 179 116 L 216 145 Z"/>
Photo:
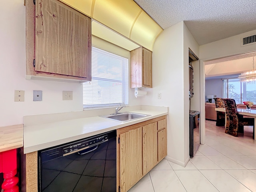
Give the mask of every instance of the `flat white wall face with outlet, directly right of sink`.
<path id="1" fill-rule="evenodd" d="M 168 106 L 168 157 L 184 162 L 183 22 L 164 30 L 156 39 L 152 56 L 153 89 L 142 104 Z M 157 98 L 162 93 L 162 99 Z M 179 146 L 179 147 L 177 147 Z"/>

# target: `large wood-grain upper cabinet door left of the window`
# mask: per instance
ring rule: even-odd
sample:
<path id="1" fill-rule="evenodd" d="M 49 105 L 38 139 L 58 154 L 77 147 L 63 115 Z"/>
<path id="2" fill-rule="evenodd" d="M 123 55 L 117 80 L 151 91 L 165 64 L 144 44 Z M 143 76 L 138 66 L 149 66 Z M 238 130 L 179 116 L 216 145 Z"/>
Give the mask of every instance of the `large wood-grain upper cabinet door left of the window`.
<path id="1" fill-rule="evenodd" d="M 91 18 L 59 2 L 36 0 L 35 70 L 91 78 Z"/>

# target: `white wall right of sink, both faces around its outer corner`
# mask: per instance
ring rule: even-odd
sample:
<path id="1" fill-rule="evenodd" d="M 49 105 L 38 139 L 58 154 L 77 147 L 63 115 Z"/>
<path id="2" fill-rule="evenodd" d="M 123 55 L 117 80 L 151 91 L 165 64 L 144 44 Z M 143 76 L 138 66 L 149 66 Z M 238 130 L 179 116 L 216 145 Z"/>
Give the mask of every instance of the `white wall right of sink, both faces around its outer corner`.
<path id="1" fill-rule="evenodd" d="M 199 54 L 199 46 L 190 38 L 183 22 L 158 36 L 153 47 L 153 88 L 142 100 L 144 105 L 169 107 L 166 158 L 182 166 L 189 160 L 188 47 Z"/>

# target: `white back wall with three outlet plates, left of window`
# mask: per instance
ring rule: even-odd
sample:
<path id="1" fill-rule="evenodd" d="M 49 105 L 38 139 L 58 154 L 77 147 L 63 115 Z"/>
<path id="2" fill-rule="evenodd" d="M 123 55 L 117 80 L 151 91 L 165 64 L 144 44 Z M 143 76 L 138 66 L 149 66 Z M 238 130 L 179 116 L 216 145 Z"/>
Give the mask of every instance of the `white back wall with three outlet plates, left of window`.
<path id="1" fill-rule="evenodd" d="M 23 1 L 6 1 L 0 7 L 0 24 L 0 126 L 23 124 L 23 116 L 28 115 L 83 110 L 82 84 L 25 79 Z M 25 90 L 24 102 L 14 102 L 14 90 Z M 43 91 L 41 102 L 33 102 L 33 90 Z M 73 91 L 72 101 L 62 101 L 63 90 Z M 129 91 L 129 104 L 140 104 L 134 89 Z"/>

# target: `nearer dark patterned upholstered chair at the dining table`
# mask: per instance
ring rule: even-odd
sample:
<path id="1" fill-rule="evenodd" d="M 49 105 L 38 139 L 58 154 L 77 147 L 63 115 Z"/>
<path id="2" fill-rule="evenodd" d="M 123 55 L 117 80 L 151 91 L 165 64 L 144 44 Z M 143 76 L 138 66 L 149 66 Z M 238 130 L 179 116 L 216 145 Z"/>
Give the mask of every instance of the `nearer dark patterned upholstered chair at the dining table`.
<path id="1" fill-rule="evenodd" d="M 254 138 L 254 118 L 242 118 L 238 115 L 236 101 L 234 99 L 223 99 L 226 108 L 226 129 L 225 133 L 237 137 L 238 126 L 253 125 Z"/>

